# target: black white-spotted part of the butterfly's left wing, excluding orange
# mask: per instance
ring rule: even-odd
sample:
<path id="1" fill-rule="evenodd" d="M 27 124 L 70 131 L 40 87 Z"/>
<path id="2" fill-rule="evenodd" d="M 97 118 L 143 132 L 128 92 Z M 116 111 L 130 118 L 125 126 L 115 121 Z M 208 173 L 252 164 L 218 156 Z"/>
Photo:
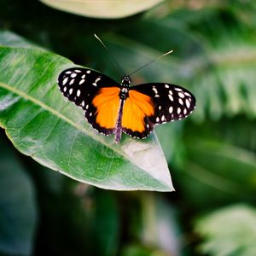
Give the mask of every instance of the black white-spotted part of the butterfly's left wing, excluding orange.
<path id="1" fill-rule="evenodd" d="M 113 133 L 113 129 L 102 127 L 96 122 L 97 109 L 92 101 L 102 88 L 119 88 L 120 85 L 117 82 L 95 70 L 72 67 L 61 72 L 58 84 L 62 94 L 69 101 L 84 109 L 85 118 L 97 131 L 105 135 Z"/>

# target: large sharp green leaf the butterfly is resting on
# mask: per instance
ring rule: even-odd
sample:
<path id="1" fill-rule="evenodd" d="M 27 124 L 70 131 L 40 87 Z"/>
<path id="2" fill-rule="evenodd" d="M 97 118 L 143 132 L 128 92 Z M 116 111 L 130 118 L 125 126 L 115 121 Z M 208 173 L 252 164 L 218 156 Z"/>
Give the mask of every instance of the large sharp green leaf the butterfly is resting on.
<path id="1" fill-rule="evenodd" d="M 56 79 L 71 61 L 38 49 L 0 48 L 0 124 L 21 153 L 104 189 L 172 191 L 154 136 L 119 144 L 103 137 L 61 95 Z"/>

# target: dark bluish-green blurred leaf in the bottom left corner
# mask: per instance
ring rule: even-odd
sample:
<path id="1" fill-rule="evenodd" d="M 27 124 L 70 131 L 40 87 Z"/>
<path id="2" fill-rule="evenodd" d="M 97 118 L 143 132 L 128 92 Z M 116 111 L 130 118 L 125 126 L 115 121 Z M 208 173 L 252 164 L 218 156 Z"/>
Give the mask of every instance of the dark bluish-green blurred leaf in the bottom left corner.
<path id="1" fill-rule="evenodd" d="M 32 182 L 3 139 L 0 148 L 0 252 L 31 255 L 37 225 Z"/>

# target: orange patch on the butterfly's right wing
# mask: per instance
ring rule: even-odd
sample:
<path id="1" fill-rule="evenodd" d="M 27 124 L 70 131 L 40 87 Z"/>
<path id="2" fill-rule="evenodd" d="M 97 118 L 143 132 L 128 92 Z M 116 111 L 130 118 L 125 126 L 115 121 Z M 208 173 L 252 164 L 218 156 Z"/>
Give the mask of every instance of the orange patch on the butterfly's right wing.
<path id="1" fill-rule="evenodd" d="M 136 90 L 130 90 L 125 101 L 122 127 L 131 131 L 145 131 L 144 118 L 154 115 L 154 104 L 151 98 Z"/>

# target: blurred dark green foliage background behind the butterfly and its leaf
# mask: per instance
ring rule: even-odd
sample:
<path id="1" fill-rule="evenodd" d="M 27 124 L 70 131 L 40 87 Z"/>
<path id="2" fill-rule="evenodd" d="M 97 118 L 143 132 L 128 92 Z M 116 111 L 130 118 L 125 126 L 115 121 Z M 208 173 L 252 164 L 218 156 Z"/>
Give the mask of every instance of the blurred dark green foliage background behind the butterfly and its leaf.
<path id="1" fill-rule="evenodd" d="M 165 1 L 120 20 L 0 0 L 0 28 L 120 80 L 193 91 L 189 119 L 156 131 L 176 192 L 96 189 L 52 172 L 0 131 L 0 255 L 256 255 L 256 3 Z"/>

